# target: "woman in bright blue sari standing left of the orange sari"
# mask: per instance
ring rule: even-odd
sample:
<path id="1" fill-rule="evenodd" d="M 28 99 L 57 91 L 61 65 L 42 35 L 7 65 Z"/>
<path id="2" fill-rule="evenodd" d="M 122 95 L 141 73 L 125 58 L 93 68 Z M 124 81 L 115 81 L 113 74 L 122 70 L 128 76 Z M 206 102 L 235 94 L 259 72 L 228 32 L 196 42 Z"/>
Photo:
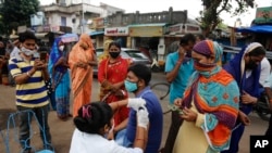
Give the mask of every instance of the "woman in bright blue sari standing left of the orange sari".
<path id="1" fill-rule="evenodd" d="M 49 73 L 54 90 L 55 111 L 61 120 L 66 120 L 70 114 L 70 73 L 67 71 L 67 51 L 61 38 L 55 38 L 49 58 Z"/>

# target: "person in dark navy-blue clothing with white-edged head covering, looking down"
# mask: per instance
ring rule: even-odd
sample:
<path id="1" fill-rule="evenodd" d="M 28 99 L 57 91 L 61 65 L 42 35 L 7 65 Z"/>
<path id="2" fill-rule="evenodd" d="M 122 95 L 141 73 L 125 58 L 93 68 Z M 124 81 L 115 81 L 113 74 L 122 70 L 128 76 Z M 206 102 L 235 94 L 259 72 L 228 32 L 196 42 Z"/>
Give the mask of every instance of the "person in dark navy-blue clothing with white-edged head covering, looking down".
<path id="1" fill-rule="evenodd" d="M 238 152 L 239 140 L 245 130 L 245 126 L 250 124 L 247 115 L 251 112 L 252 105 L 257 103 L 259 93 L 260 62 L 265 56 L 265 50 L 259 42 L 246 46 L 224 69 L 228 72 L 237 81 L 240 92 L 239 115 L 235 130 L 232 132 L 231 145 L 223 153 Z"/>

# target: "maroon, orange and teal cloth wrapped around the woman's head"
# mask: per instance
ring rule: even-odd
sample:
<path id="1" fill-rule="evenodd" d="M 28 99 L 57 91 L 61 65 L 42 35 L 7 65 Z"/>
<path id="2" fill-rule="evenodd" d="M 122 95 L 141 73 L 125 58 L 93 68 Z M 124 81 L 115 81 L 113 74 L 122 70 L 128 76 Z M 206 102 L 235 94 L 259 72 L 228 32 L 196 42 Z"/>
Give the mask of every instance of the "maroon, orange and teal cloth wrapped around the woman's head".
<path id="1" fill-rule="evenodd" d="M 196 43 L 193 48 L 193 50 L 197 53 L 215 58 L 215 63 L 220 61 L 223 49 L 219 46 L 218 42 L 211 41 L 211 40 L 202 40 L 198 43 Z"/>

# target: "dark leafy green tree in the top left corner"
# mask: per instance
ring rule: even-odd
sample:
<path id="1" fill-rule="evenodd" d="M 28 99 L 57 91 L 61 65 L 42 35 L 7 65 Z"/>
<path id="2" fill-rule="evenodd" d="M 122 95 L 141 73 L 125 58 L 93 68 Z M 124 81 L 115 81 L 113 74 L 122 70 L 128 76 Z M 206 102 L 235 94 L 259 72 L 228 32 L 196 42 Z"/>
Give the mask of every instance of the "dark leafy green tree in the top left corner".
<path id="1" fill-rule="evenodd" d="M 30 25 L 30 14 L 39 10 L 39 0 L 2 0 L 0 13 L 4 23 L 3 34 L 11 34 L 17 26 Z"/>

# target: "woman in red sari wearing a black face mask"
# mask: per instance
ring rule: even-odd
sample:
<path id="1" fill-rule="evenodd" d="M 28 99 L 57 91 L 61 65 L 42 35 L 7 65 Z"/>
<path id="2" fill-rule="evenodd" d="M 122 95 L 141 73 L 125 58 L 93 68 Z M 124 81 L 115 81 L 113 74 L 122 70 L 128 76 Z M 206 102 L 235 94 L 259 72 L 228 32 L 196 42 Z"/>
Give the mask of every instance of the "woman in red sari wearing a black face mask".
<path id="1" fill-rule="evenodd" d="M 121 46 L 113 41 L 109 44 L 109 56 L 101 61 L 98 67 L 98 80 L 100 82 L 100 101 L 107 97 L 106 102 L 111 103 L 127 98 L 124 87 L 129 61 L 120 55 Z M 120 107 L 114 114 L 113 135 L 121 136 L 127 124 L 128 109 Z M 122 132 L 121 132 L 122 130 Z M 119 135 L 116 135 L 119 133 Z M 112 137 L 112 136 L 110 136 Z M 112 138 L 110 138 L 112 139 Z"/>

